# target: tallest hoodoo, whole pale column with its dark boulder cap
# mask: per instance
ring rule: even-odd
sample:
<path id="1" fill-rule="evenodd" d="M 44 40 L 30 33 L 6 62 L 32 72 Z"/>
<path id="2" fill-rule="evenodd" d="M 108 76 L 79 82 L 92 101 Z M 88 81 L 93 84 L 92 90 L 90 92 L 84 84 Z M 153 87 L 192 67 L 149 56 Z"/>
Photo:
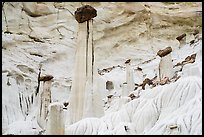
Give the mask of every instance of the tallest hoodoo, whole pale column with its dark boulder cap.
<path id="1" fill-rule="evenodd" d="M 78 32 L 73 83 L 67 113 L 70 124 L 85 117 L 99 117 L 103 113 L 102 97 L 100 93 L 95 92 L 98 85 L 95 75 L 93 18 L 96 15 L 96 10 L 89 5 L 77 8 L 75 11 Z"/>

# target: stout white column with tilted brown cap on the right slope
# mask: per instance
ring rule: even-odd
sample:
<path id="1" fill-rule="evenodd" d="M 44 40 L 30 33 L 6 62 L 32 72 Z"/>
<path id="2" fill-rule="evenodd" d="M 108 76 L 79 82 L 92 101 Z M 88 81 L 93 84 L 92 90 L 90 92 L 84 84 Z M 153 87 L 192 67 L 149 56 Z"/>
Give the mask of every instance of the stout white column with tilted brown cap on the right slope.
<path id="1" fill-rule="evenodd" d="M 171 79 L 174 76 L 173 63 L 171 58 L 172 48 L 167 47 L 163 50 L 159 50 L 157 55 L 161 57 L 159 63 L 159 79 L 160 81 L 165 77 Z"/>

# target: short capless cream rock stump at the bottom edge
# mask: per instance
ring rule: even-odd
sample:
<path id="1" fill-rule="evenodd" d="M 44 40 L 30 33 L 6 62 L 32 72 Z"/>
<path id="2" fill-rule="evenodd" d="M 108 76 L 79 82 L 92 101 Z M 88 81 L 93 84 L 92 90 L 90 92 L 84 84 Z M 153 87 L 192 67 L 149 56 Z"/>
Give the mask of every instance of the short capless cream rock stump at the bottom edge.
<path id="1" fill-rule="evenodd" d="M 63 105 L 59 102 L 51 103 L 48 111 L 46 135 L 64 135 Z"/>

